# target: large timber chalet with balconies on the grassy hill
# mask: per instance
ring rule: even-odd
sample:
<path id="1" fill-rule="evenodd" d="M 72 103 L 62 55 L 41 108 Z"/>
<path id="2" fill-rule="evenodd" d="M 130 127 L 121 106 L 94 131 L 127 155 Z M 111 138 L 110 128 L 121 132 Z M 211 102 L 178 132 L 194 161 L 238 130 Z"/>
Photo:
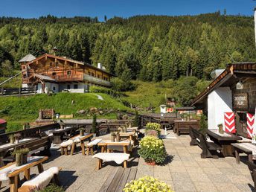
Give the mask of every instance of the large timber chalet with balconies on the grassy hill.
<path id="1" fill-rule="evenodd" d="M 111 86 L 113 76 L 100 63 L 97 67 L 51 54 L 19 60 L 22 67 L 22 87 L 37 87 L 38 93 L 53 91 L 87 92 L 89 85 Z"/>

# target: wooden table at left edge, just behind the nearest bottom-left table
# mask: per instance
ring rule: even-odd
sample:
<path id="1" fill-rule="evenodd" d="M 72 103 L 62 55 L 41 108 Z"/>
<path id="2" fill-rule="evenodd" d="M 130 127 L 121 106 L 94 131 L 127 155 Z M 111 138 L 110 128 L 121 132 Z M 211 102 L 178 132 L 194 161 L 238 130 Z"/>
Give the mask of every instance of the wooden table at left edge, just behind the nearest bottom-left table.
<path id="1" fill-rule="evenodd" d="M 6 155 L 6 153 L 8 152 L 8 150 L 14 150 L 16 147 L 20 147 L 22 145 L 25 144 L 29 144 L 31 143 L 31 141 L 36 141 L 39 140 L 39 138 L 24 138 L 24 139 L 20 139 L 19 143 L 15 143 L 15 144 L 1 144 L 0 145 L 0 167 L 4 166 L 4 156 Z"/>

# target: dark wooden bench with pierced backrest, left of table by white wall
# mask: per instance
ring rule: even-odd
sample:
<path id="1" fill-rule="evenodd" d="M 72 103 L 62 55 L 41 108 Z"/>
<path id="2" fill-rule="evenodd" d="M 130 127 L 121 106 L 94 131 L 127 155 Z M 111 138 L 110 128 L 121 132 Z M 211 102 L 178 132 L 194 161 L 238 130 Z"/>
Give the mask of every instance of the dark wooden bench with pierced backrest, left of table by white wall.
<path id="1" fill-rule="evenodd" d="M 209 142 L 206 140 L 205 135 L 202 135 L 196 129 L 190 129 L 191 135 L 191 145 L 198 145 L 202 149 L 201 158 L 205 159 L 208 157 L 217 159 L 219 156 L 217 155 L 217 150 L 222 150 L 222 147 L 219 144 L 215 144 L 214 142 Z"/>

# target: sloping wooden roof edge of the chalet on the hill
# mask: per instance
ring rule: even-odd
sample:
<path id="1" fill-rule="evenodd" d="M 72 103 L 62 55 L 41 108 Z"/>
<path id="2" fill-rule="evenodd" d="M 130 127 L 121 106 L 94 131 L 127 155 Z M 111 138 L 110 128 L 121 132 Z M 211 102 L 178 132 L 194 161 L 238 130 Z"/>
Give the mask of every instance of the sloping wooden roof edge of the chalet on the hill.
<path id="1" fill-rule="evenodd" d="M 42 56 L 37 57 L 35 60 L 32 60 L 30 63 L 27 63 L 27 65 L 31 65 L 32 63 L 35 63 L 36 61 L 42 60 L 43 58 L 47 58 L 47 57 L 54 58 L 54 59 L 57 59 L 57 60 L 67 61 L 67 62 L 70 62 L 70 63 L 76 63 L 76 64 L 79 64 L 79 65 L 86 65 L 89 68 L 94 68 L 97 71 L 102 71 L 102 72 L 104 72 L 106 74 L 114 76 L 114 74 L 111 74 L 108 71 L 105 71 L 105 70 L 103 70 L 101 68 L 97 68 L 94 65 L 90 65 L 89 63 L 83 63 L 81 61 L 72 60 L 72 59 L 69 59 L 69 58 L 66 58 L 66 57 L 60 57 L 60 56 L 56 56 L 56 55 L 52 55 L 52 54 L 43 54 Z"/>

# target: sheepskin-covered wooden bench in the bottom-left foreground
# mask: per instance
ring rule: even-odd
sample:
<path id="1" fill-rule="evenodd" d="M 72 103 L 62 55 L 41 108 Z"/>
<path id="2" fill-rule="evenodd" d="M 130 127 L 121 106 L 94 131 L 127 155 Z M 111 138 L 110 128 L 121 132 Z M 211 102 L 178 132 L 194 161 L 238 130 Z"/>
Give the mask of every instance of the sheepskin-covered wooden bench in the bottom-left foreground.
<path id="1" fill-rule="evenodd" d="M 60 179 L 59 179 L 59 172 L 61 170 L 61 167 L 51 167 L 48 170 L 45 170 L 42 173 L 39 173 L 39 175 L 35 176 L 33 179 L 28 180 L 27 182 L 24 182 L 22 187 L 18 189 L 18 192 L 33 192 L 42 190 L 42 188 L 39 188 L 38 183 L 39 182 L 45 182 L 43 185 L 48 185 L 50 182 L 54 183 L 56 185 L 60 185 Z M 46 187 L 46 186 L 45 186 Z"/>

